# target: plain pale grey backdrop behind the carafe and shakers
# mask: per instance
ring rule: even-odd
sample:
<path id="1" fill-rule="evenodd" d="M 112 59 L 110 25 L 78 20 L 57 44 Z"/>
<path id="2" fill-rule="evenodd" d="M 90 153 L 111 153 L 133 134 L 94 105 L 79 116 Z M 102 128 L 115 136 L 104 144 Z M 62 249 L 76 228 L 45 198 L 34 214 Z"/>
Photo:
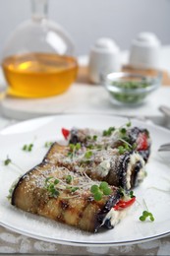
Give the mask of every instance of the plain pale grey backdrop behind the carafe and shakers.
<path id="1" fill-rule="evenodd" d="M 19 24 L 30 17 L 29 0 L 0 0 L 0 57 L 3 45 Z M 129 49 L 139 32 L 154 32 L 170 44 L 170 0 L 49 0 L 49 19 L 72 35 L 76 54 L 87 54 L 101 37 Z"/>

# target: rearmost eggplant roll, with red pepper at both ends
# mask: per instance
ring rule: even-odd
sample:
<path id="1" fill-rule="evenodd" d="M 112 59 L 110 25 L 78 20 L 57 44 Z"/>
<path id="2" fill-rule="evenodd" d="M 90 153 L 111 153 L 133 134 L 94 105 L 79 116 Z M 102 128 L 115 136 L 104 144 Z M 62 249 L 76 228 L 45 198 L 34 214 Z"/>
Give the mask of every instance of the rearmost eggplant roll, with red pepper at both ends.
<path id="1" fill-rule="evenodd" d="M 62 132 L 65 129 L 62 130 Z M 73 128 L 67 131 L 67 139 L 69 144 L 81 143 L 87 148 L 102 147 L 102 148 L 118 148 L 128 143 L 133 149 L 136 149 L 146 162 L 150 156 L 151 141 L 147 129 L 139 127 L 110 127 L 104 131 L 97 131 L 94 129 L 78 129 Z"/>

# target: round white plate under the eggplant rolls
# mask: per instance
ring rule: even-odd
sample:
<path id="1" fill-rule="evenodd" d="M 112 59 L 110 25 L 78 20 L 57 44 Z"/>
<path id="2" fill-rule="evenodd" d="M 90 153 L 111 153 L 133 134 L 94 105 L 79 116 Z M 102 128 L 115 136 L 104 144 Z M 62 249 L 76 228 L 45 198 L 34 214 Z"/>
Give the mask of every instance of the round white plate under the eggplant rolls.
<path id="1" fill-rule="evenodd" d="M 146 166 L 148 174 L 142 185 L 135 189 L 138 199 L 135 206 L 115 228 L 96 234 L 87 233 L 66 224 L 24 213 L 7 201 L 10 185 L 19 176 L 16 166 L 3 164 L 7 155 L 25 173 L 43 159 L 47 151 L 44 148 L 46 141 L 62 138 L 62 127 L 105 129 L 126 122 L 127 119 L 111 115 L 61 115 L 29 120 L 3 130 L 0 133 L 0 224 L 41 240 L 79 246 L 123 245 L 169 234 L 170 193 L 161 189 L 168 191 L 170 188 L 170 170 L 166 160 L 162 160 L 158 155 L 157 148 L 170 140 L 170 132 L 136 120 L 133 120 L 133 125 L 146 127 L 152 138 L 151 158 Z M 32 152 L 22 151 L 22 147 L 29 143 L 34 145 Z M 153 223 L 139 221 L 142 211 L 146 210 L 143 200 L 155 218 Z"/>

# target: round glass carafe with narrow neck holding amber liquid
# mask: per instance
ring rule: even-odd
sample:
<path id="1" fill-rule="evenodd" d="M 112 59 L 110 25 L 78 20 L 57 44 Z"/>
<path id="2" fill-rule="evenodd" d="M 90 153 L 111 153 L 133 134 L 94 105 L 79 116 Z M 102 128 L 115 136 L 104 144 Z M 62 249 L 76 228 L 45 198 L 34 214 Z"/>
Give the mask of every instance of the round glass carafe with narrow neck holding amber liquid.
<path id="1" fill-rule="evenodd" d="M 11 96 L 64 93 L 76 80 L 78 63 L 67 32 L 47 19 L 48 0 L 31 1 L 31 20 L 8 39 L 2 68 Z"/>

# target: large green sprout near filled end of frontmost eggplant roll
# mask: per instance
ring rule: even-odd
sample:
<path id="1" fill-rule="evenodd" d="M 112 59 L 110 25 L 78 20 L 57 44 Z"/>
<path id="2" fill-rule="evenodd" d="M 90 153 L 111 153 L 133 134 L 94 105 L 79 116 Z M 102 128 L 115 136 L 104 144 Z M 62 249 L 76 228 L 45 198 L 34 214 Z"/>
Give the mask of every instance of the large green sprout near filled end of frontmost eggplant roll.
<path id="1" fill-rule="evenodd" d="M 92 185 L 90 188 L 90 192 L 93 194 L 93 198 L 95 201 L 100 201 L 103 195 L 108 196 L 111 194 L 111 189 L 108 186 L 108 183 L 102 181 L 100 185 Z"/>

